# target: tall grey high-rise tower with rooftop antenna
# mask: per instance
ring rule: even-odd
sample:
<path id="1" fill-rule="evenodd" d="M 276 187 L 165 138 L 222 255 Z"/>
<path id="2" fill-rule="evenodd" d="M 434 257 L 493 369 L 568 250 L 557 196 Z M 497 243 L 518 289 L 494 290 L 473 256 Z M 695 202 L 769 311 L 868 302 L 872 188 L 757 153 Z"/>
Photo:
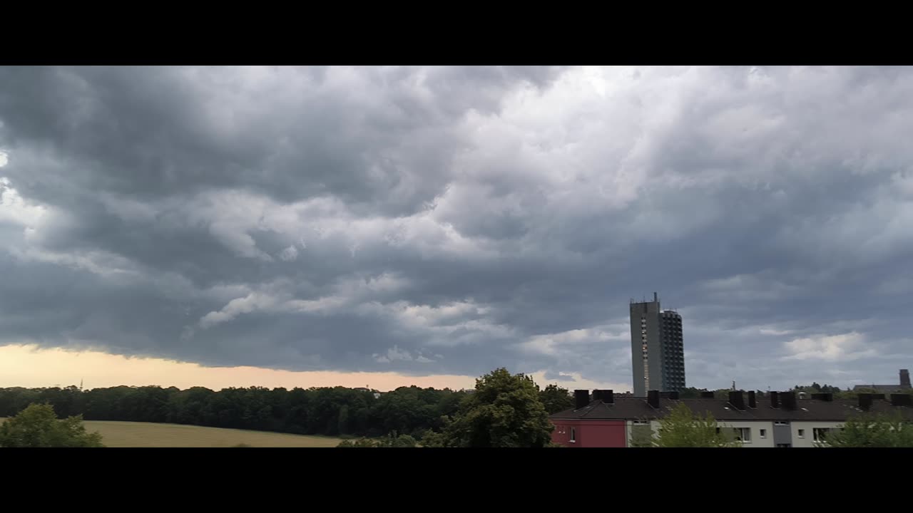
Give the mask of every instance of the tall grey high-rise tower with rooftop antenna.
<path id="1" fill-rule="evenodd" d="M 677 392 L 685 388 L 685 350 L 682 318 L 653 301 L 630 303 L 631 366 L 634 394 L 644 397 L 648 390 Z"/>

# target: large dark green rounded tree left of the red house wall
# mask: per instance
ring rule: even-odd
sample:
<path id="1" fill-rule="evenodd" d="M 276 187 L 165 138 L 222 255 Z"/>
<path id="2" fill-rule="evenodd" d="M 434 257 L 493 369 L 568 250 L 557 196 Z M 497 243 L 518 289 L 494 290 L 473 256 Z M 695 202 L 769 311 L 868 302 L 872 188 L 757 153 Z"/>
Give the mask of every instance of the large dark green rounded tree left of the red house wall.
<path id="1" fill-rule="evenodd" d="M 545 447 L 553 429 L 536 383 L 500 368 L 476 380 L 476 393 L 467 396 L 442 436 L 429 441 L 445 447 Z"/>

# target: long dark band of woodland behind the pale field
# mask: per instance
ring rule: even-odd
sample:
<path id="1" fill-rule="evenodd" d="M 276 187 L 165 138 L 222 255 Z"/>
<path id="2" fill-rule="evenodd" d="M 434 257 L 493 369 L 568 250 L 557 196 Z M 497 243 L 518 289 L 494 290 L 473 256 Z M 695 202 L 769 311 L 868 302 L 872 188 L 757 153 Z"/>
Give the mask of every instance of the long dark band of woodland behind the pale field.
<path id="1" fill-rule="evenodd" d="M 531 383 L 531 381 L 530 381 Z M 546 414 L 572 407 L 570 393 L 556 385 L 540 390 Z M 29 404 L 50 404 L 58 418 L 192 424 L 289 434 L 380 437 L 391 433 L 420 438 L 440 433 L 462 403 L 477 391 L 400 387 L 374 393 L 345 387 L 226 388 L 179 390 L 160 386 L 117 386 L 81 391 L 65 388 L 0 389 L 0 417 L 12 417 Z"/>

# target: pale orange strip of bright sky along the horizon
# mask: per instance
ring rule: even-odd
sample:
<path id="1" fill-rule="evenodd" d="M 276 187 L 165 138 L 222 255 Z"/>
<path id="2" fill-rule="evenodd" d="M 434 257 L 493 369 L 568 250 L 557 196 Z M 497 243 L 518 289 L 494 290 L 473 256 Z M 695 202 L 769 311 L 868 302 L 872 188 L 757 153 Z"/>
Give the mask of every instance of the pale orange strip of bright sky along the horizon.
<path id="1" fill-rule="evenodd" d="M 516 372 L 510 370 L 510 372 Z M 544 379 L 543 372 L 531 373 L 540 387 L 555 381 Z M 623 392 L 629 387 L 614 384 L 580 381 L 557 382 L 567 388 L 610 388 Z M 471 389 L 476 376 L 432 375 L 409 376 L 396 372 L 292 372 L 259 367 L 204 367 L 186 361 L 160 358 L 125 357 L 101 351 L 67 351 L 59 348 L 42 349 L 35 344 L 0 347 L 0 388 L 41 388 L 79 385 L 86 389 L 113 386 L 158 385 L 175 386 L 182 390 L 203 386 L 212 390 L 263 386 L 292 389 L 310 387 L 367 386 L 388 392 L 401 386 L 421 388 Z"/>

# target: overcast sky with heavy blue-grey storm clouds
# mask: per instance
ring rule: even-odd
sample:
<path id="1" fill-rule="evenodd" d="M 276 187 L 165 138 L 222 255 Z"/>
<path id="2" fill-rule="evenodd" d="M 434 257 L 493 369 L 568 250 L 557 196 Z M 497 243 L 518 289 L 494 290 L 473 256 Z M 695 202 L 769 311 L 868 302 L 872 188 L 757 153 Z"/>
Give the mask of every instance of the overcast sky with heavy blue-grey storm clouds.
<path id="1" fill-rule="evenodd" d="M 893 383 L 910 134 L 910 68 L 0 68 L 0 354 L 629 390 L 656 291 L 690 386 Z"/>

